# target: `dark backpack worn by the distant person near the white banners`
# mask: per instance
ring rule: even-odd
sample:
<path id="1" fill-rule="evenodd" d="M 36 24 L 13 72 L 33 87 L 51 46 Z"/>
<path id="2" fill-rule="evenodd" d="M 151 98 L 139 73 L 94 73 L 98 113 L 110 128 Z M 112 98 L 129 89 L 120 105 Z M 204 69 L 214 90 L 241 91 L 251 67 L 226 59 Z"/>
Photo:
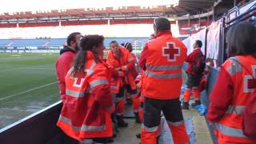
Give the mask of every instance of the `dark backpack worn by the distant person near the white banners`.
<path id="1" fill-rule="evenodd" d="M 206 68 L 206 58 L 202 53 L 198 54 L 197 62 L 192 65 L 192 69 L 196 74 L 202 74 Z"/>

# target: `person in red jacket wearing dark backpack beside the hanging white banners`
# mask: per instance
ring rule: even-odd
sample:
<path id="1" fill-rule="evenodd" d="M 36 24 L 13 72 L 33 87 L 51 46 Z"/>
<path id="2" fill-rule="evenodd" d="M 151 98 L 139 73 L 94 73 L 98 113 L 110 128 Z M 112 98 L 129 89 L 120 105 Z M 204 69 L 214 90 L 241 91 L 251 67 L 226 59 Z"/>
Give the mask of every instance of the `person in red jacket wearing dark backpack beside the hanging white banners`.
<path id="1" fill-rule="evenodd" d="M 200 89 L 199 85 L 202 79 L 203 71 L 200 71 L 200 65 L 205 65 L 204 55 L 202 54 L 202 42 L 197 40 L 194 42 L 194 50 L 186 58 L 188 68 L 186 70 L 187 81 L 186 81 L 186 90 L 184 91 L 184 102 L 182 103 L 182 109 L 189 110 L 189 101 L 191 93 L 194 95 L 195 102 L 192 106 L 200 105 Z M 201 63 L 202 62 L 202 63 Z M 204 68 L 205 66 L 202 66 Z"/>

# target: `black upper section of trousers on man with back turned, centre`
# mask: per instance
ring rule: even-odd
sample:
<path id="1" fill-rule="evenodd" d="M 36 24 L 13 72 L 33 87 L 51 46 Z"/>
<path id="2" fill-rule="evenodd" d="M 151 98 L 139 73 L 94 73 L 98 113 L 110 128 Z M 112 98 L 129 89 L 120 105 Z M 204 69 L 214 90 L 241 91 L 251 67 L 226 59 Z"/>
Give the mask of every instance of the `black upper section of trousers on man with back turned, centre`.
<path id="1" fill-rule="evenodd" d="M 143 110 L 143 124 L 148 128 L 160 125 L 161 111 L 167 122 L 183 121 L 179 98 L 168 100 L 145 98 Z"/>

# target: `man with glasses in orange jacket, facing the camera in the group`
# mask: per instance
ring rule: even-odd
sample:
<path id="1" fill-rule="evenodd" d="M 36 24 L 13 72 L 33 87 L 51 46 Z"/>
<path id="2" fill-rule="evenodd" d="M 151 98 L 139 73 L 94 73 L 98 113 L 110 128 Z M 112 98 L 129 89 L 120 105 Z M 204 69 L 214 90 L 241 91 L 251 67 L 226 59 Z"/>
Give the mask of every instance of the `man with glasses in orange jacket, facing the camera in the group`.
<path id="1" fill-rule="evenodd" d="M 118 126 L 126 127 L 128 123 L 122 118 L 125 111 L 125 90 L 134 98 L 137 94 L 134 79 L 136 77 L 134 70 L 134 58 L 124 47 L 119 46 L 118 42 L 110 42 L 110 53 L 106 58 L 107 64 L 112 68 L 111 90 L 116 94 L 116 114 Z M 138 110 L 134 111 L 138 117 Z"/>

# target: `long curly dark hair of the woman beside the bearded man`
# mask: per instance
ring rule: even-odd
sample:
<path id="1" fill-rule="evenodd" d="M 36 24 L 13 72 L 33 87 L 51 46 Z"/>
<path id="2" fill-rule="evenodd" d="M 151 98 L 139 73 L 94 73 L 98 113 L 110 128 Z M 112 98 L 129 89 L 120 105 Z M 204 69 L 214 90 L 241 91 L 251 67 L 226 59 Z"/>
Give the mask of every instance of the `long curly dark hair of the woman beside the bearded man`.
<path id="1" fill-rule="evenodd" d="M 81 39 L 80 46 L 82 50 L 78 52 L 77 57 L 74 60 L 73 75 L 84 70 L 86 66 L 86 51 L 92 51 L 96 58 L 96 62 L 98 62 L 98 55 L 94 49 L 102 45 L 103 41 L 104 37 L 102 35 L 86 35 Z"/>

